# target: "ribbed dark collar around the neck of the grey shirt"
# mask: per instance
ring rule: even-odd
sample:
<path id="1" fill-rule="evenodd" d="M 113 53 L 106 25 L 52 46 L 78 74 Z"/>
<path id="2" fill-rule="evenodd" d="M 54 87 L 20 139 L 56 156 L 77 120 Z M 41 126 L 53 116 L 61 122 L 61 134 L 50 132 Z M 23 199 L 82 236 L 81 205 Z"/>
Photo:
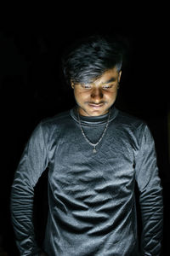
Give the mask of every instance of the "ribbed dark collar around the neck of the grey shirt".
<path id="1" fill-rule="evenodd" d="M 71 117 L 78 122 L 77 107 L 71 108 L 70 113 L 71 113 Z M 112 106 L 110 122 L 116 118 L 117 113 L 118 113 L 118 110 L 114 106 Z M 80 115 L 81 123 L 82 125 L 103 125 L 107 122 L 108 114 L 109 113 L 105 113 L 103 115 L 93 116 L 93 117 Z"/>

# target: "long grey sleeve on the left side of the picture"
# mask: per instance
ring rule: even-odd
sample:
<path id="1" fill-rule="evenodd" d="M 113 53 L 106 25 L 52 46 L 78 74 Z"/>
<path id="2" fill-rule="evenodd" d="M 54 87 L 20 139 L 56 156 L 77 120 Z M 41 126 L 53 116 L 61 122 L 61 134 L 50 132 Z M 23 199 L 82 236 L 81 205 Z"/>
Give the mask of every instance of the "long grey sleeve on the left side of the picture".
<path id="1" fill-rule="evenodd" d="M 34 187 L 47 166 L 47 148 L 38 125 L 26 144 L 11 189 L 11 218 L 20 255 L 37 255 L 40 250 L 32 223 L 33 198 Z"/>

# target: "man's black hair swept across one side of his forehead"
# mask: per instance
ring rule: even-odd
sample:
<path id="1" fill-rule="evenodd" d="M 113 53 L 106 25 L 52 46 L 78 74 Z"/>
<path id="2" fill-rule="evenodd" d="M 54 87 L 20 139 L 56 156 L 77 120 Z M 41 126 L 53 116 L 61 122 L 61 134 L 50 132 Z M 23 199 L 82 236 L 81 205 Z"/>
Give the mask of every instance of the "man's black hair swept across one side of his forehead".
<path id="1" fill-rule="evenodd" d="M 68 83 L 88 84 L 105 71 L 122 68 L 122 47 L 117 40 L 99 35 L 78 41 L 62 58 L 62 68 Z"/>

